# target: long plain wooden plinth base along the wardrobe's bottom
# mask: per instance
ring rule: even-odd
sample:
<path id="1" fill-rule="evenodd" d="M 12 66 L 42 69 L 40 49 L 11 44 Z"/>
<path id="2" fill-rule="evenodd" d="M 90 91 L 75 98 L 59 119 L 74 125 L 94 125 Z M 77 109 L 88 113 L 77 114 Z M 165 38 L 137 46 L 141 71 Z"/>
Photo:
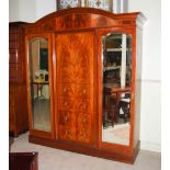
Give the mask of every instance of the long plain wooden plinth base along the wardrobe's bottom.
<path id="1" fill-rule="evenodd" d="M 53 148 L 64 149 L 68 151 L 73 152 L 80 152 L 88 156 L 94 156 L 100 158 L 105 158 L 110 160 L 117 160 L 126 163 L 134 163 L 136 156 L 139 150 L 139 141 L 137 143 L 137 146 L 134 148 L 134 152 L 126 154 L 123 151 L 114 151 L 113 149 L 99 149 L 98 147 L 87 146 L 87 145 L 80 145 L 78 143 L 69 143 L 66 140 L 55 140 L 55 139 L 45 139 L 36 136 L 30 136 L 29 137 L 30 143 L 34 144 L 41 144 L 43 146 L 49 146 Z"/>

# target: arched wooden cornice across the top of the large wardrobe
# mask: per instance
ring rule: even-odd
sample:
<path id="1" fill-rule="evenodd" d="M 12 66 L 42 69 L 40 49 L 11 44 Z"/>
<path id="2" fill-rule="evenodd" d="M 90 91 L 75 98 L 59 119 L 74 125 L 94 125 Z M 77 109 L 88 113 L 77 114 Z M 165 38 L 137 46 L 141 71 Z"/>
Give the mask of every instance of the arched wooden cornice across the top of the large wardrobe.
<path id="1" fill-rule="evenodd" d="M 135 26 L 139 12 L 114 14 L 94 8 L 70 8 L 53 12 L 25 27 L 25 33 L 78 29 Z"/>

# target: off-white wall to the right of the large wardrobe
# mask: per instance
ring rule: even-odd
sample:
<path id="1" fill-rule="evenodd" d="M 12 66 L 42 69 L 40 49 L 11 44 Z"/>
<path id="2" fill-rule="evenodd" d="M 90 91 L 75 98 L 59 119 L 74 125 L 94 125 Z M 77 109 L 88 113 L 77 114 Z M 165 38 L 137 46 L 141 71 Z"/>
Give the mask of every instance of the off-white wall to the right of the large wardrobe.
<path id="1" fill-rule="evenodd" d="M 141 78 L 141 149 L 161 150 L 161 76 L 160 76 L 160 30 L 161 1 L 136 0 L 128 1 L 128 12 L 140 11 L 147 22 L 143 30 Z"/>

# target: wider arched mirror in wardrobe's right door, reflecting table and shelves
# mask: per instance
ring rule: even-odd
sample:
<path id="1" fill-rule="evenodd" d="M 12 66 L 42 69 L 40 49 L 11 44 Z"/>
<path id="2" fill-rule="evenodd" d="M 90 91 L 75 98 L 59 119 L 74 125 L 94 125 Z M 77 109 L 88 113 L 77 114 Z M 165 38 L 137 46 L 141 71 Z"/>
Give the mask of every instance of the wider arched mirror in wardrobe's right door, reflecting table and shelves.
<path id="1" fill-rule="evenodd" d="M 102 36 L 102 141 L 129 145 L 132 36 Z"/>

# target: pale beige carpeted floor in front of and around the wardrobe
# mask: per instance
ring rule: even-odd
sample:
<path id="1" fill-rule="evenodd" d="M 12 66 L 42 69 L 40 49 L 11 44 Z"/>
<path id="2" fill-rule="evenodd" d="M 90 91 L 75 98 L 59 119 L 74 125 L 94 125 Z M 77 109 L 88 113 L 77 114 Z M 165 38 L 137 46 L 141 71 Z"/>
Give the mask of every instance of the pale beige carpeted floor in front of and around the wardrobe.
<path id="1" fill-rule="evenodd" d="M 140 150 L 135 165 L 84 156 L 29 143 L 29 133 L 14 139 L 11 151 L 38 151 L 39 170 L 160 170 L 158 152 Z"/>

